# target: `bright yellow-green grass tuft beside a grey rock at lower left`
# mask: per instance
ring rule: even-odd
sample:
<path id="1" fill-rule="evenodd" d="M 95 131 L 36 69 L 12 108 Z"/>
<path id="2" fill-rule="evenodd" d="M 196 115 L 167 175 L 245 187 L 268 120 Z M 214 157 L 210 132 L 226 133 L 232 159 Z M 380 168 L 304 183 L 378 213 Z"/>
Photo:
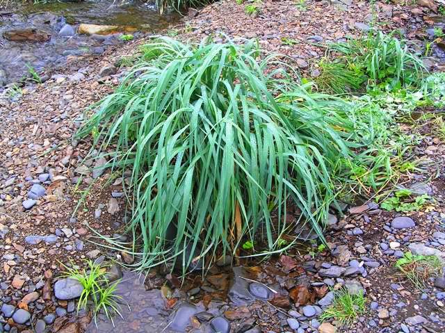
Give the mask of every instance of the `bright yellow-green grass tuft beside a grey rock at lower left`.
<path id="1" fill-rule="evenodd" d="M 77 304 L 77 311 L 90 309 L 95 319 L 97 314 L 102 311 L 112 322 L 113 316 L 116 314 L 121 316 L 119 302 L 122 300 L 122 297 L 115 293 L 120 280 L 113 283 L 108 282 L 106 279 L 106 267 L 91 260 L 87 261 L 88 269 L 83 268 L 83 270 L 79 270 L 63 266 L 66 269 L 63 277 L 76 279 L 83 286 L 83 291 Z"/>

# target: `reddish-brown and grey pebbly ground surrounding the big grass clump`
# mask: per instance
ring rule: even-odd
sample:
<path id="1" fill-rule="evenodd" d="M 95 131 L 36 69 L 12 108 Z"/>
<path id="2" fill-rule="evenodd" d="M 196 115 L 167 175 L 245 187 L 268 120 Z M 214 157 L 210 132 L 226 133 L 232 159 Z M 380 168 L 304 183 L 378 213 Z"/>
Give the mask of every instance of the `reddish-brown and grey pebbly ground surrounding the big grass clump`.
<path id="1" fill-rule="evenodd" d="M 346 0 L 264 1 L 252 17 L 244 4 L 223 1 L 191 10 L 170 35 L 257 37 L 262 47 L 290 56 L 310 74 L 325 42 L 366 31 L 375 17 L 383 29 L 401 28 L 414 42 L 428 37 L 436 8 L 430 1 L 419 3 L 376 3 L 373 11 L 369 3 Z M 88 325 L 87 314 L 76 314 L 81 289 L 60 277 L 63 265 L 133 258 L 95 245 L 100 243 L 95 231 L 127 241 L 124 179 L 103 173 L 106 160 L 94 152 L 83 161 L 90 144 L 73 140 L 73 134 L 86 108 L 126 73 L 115 67 L 118 60 L 142 42 L 111 46 L 100 56 L 74 56 L 66 67 L 48 72 L 44 83 L 19 93 L 6 89 L 0 99 L 0 332 L 162 332 L 168 326 L 167 331 L 330 333 L 336 323 L 317 318 L 332 302 L 331 288 L 343 285 L 366 293 L 366 312 L 337 332 L 445 332 L 444 278 L 419 291 L 394 268 L 407 250 L 445 260 L 445 143 L 428 126 L 419 132 L 416 154 L 432 163 L 403 179 L 403 186 L 434 198 L 421 211 L 387 212 L 372 202 L 345 207 L 346 215 L 332 211 L 330 217 L 331 252 L 295 249 L 267 263 L 240 261 L 233 268 L 226 257 L 204 281 L 192 274 L 183 286 L 164 268 L 145 280 L 125 273 L 120 293 L 131 311 L 116 318 L 115 327 L 103 318 Z M 435 60 L 429 65 L 441 67 Z M 111 272 L 122 277 L 118 265 Z"/>

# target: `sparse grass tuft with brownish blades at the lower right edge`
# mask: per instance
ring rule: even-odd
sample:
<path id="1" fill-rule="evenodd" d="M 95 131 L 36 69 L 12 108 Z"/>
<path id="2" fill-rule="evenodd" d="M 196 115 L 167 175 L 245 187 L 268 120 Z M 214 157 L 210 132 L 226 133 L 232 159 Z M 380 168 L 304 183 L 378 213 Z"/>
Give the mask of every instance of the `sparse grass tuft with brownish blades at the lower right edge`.
<path id="1" fill-rule="evenodd" d="M 401 259 L 396 261 L 396 268 L 417 289 L 423 290 L 430 277 L 442 276 L 442 261 L 434 255 L 423 256 L 405 252 Z"/>

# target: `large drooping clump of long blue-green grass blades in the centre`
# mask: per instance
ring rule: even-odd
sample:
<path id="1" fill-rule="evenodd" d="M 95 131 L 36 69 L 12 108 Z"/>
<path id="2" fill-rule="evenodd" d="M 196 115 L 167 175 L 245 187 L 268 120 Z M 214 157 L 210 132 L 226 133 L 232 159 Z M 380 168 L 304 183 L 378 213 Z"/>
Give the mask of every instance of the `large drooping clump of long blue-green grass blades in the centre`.
<path id="1" fill-rule="evenodd" d="M 344 103 L 298 86 L 254 42 L 162 38 L 143 52 L 78 133 L 131 170 L 138 267 L 208 267 L 246 240 L 254 255 L 278 251 L 289 204 L 323 237 L 330 171 L 348 154 Z"/>

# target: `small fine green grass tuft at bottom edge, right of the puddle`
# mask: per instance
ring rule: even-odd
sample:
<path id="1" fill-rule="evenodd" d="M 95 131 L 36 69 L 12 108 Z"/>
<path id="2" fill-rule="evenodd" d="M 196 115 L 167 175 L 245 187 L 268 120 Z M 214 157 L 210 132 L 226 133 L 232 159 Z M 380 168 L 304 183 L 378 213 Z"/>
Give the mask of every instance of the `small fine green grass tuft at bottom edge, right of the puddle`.
<path id="1" fill-rule="evenodd" d="M 337 320 L 343 326 L 349 326 L 365 311 L 366 298 L 363 292 L 350 294 L 348 289 L 334 291 L 334 301 L 320 316 L 320 320 Z"/>

